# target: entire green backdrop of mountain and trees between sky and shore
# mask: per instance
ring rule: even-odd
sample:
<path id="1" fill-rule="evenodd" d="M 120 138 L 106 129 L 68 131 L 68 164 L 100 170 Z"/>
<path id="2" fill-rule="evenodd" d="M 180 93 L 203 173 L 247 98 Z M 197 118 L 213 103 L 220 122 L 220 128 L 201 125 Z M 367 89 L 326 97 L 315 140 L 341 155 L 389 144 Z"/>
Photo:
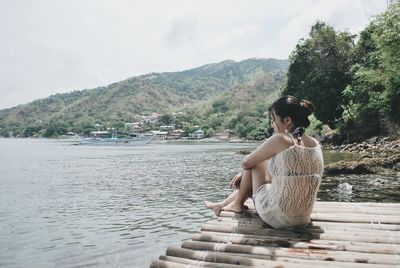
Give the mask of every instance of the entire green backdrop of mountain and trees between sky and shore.
<path id="1" fill-rule="evenodd" d="M 229 129 L 242 138 L 263 139 L 268 105 L 290 94 L 313 102 L 313 133 L 325 124 L 335 129 L 339 143 L 398 137 L 399 33 L 400 2 L 392 1 L 358 35 L 317 22 L 289 61 L 227 60 L 56 94 L 0 111 L 0 135 L 88 134 L 96 123 L 120 129 L 137 115 L 157 112 L 159 124 L 173 123 L 187 132 L 196 126 L 211 136 Z"/>

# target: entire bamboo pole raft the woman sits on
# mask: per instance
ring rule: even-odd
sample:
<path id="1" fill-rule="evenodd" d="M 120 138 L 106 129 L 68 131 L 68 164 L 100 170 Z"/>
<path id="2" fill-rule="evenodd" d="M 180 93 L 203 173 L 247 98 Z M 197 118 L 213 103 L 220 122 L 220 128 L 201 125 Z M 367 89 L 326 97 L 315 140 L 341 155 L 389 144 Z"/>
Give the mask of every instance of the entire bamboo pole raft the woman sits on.
<path id="1" fill-rule="evenodd" d="M 277 230 L 222 212 L 151 267 L 400 267 L 400 203 L 316 202 L 312 223 Z"/>

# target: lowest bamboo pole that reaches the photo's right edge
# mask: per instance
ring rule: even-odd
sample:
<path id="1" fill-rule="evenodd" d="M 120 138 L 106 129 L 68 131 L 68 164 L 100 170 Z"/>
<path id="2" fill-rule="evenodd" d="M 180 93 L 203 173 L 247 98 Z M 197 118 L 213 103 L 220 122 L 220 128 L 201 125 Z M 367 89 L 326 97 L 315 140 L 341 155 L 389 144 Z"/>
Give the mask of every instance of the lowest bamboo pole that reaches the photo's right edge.
<path id="1" fill-rule="evenodd" d="M 207 250 L 216 252 L 231 252 L 244 254 L 257 254 L 267 256 L 292 257 L 308 260 L 330 260 L 340 262 L 362 262 L 373 264 L 399 264 L 397 256 L 388 254 L 372 254 L 361 252 L 342 252 L 334 250 L 314 250 L 314 249 L 296 249 L 296 248 L 276 248 L 244 246 L 225 243 L 211 243 L 199 241 L 186 241 L 182 243 L 182 248 L 192 250 Z"/>

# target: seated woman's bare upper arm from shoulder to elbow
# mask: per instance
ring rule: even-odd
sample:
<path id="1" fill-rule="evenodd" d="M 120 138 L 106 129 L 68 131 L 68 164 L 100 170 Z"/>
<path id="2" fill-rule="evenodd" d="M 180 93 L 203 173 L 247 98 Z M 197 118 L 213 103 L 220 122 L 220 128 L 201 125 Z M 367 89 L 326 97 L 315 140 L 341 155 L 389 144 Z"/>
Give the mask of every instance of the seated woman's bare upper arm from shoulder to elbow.
<path id="1" fill-rule="evenodd" d="M 243 169 L 250 169 L 255 167 L 257 164 L 270 159 L 278 152 L 286 149 L 288 145 L 290 146 L 287 137 L 283 134 L 274 134 L 268 138 L 263 144 L 261 144 L 255 151 L 247 155 L 243 162 Z"/>

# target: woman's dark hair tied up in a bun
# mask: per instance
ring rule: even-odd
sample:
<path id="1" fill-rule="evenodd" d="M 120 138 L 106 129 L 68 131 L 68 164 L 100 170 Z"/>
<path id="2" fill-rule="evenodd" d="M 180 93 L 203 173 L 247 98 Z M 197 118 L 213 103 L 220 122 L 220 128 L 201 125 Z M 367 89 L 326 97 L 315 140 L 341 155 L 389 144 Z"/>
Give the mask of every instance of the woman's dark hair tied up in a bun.
<path id="1" fill-rule="evenodd" d="M 314 112 L 314 106 L 308 100 L 299 100 L 293 96 L 283 96 L 268 108 L 270 114 L 272 111 L 281 118 L 287 116 L 292 118 L 294 121 L 293 129 L 297 127 L 307 128 L 310 125 L 308 116 Z"/>

